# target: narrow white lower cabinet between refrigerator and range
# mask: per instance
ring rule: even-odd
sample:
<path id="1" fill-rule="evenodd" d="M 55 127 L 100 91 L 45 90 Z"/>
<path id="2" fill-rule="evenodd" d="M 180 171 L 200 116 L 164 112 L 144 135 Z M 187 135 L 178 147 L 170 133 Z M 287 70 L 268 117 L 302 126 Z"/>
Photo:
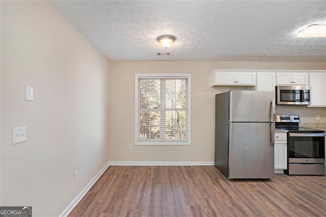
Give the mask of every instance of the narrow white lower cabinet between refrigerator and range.
<path id="1" fill-rule="evenodd" d="M 276 173 L 283 173 L 283 170 L 287 169 L 286 149 L 287 149 L 286 132 L 276 132 L 275 143 L 274 143 L 274 169 Z"/>

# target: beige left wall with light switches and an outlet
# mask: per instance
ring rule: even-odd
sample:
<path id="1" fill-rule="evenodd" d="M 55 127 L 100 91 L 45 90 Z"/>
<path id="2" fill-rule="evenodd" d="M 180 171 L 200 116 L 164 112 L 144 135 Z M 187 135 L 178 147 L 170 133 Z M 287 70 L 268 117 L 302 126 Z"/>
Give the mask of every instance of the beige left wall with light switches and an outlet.
<path id="1" fill-rule="evenodd" d="M 56 216 L 108 162 L 108 61 L 47 2 L 2 1 L 1 16 L 2 205 Z"/>

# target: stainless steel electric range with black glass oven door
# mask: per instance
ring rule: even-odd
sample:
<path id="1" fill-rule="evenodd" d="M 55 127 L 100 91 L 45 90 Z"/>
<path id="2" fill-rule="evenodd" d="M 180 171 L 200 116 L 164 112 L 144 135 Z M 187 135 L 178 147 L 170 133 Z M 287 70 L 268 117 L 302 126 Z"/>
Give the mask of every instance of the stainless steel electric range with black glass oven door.
<path id="1" fill-rule="evenodd" d="M 298 115 L 276 115 L 275 127 L 287 131 L 288 175 L 325 174 L 325 131 L 300 127 Z"/>

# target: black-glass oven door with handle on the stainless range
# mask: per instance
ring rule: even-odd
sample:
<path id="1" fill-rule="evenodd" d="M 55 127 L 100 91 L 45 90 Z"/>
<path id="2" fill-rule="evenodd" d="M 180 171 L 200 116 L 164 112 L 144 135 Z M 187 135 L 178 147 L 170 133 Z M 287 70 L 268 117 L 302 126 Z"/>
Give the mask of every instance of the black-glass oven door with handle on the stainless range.
<path id="1" fill-rule="evenodd" d="M 323 164 L 325 133 L 288 133 L 289 163 Z"/>

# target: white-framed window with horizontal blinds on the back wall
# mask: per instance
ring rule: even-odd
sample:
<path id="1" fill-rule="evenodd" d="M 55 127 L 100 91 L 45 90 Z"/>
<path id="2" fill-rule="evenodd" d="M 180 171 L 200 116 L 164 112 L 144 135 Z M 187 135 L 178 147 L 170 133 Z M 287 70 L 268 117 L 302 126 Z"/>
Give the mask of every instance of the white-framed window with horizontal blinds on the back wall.
<path id="1" fill-rule="evenodd" d="M 190 74 L 136 74 L 135 144 L 190 145 Z"/>

